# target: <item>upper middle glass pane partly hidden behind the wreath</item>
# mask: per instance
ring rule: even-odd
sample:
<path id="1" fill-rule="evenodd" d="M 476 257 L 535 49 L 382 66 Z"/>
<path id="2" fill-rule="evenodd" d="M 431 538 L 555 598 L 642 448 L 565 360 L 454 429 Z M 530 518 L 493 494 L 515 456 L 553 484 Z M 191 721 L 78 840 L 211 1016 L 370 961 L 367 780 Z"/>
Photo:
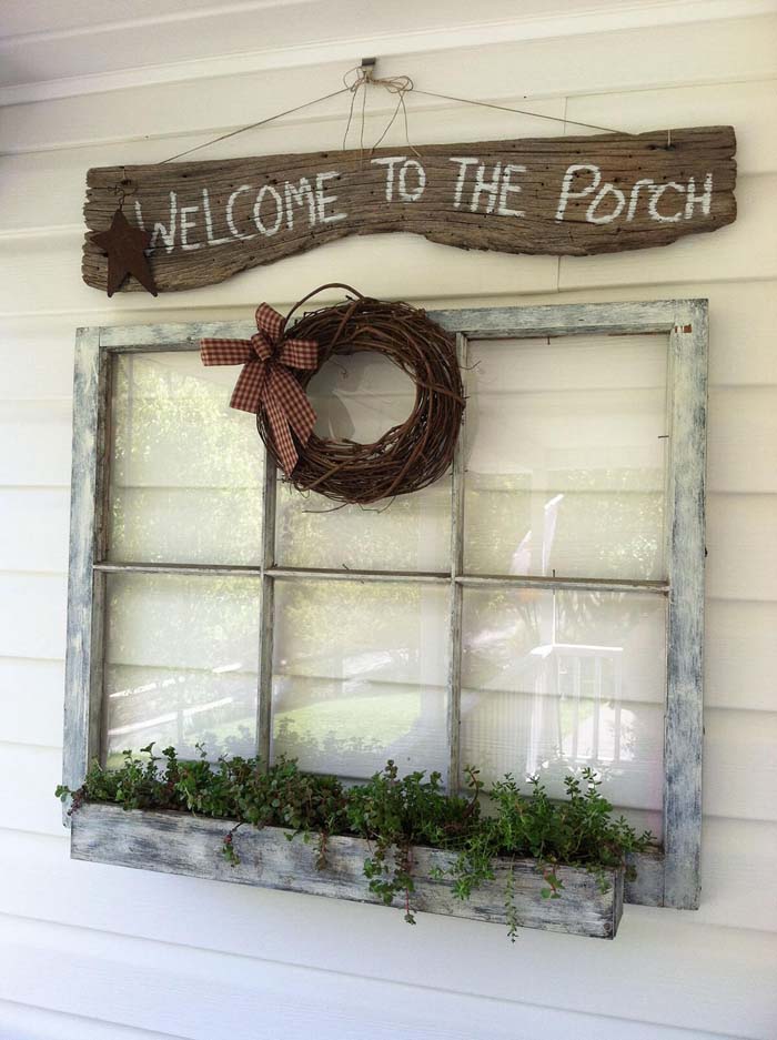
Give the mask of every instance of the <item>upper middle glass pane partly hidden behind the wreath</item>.
<path id="1" fill-rule="evenodd" d="M 335 357 L 311 381 L 320 436 L 376 441 L 407 418 L 412 381 L 379 354 Z M 287 567 L 362 571 L 450 569 L 451 477 L 372 506 L 340 506 L 279 487 L 278 561 Z"/>

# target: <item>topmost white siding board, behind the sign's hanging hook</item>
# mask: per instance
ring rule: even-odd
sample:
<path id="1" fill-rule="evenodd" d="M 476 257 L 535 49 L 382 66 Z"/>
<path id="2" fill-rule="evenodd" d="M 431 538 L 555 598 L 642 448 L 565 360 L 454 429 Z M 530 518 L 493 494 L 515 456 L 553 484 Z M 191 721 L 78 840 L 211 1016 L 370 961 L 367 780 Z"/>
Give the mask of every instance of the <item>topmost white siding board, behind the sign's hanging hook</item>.
<path id="1" fill-rule="evenodd" d="M 420 90 L 509 104 L 519 99 L 525 101 L 527 97 L 616 94 L 675 85 L 765 80 L 775 74 L 776 48 L 777 19 L 767 16 L 693 27 L 622 30 L 563 41 L 505 42 L 493 48 L 485 60 L 485 52 L 480 48 L 456 53 L 426 52 L 412 59 L 387 57 L 381 59 L 379 74 L 392 75 L 410 69 Z M 145 142 L 148 138 L 209 134 L 213 128 L 240 127 L 336 90 L 341 77 L 357 63 L 360 54 L 356 50 L 354 60 L 312 63 L 304 74 L 297 68 L 271 69 L 222 75 L 200 83 L 140 85 L 108 94 L 9 105 L 0 109 L 2 151 L 18 153 L 118 141 Z M 198 103 L 198 98 L 206 99 L 206 103 Z M 281 104 L 279 99 L 282 99 Z M 416 95 L 411 103 L 416 101 L 427 103 L 428 99 Z M 379 104 L 389 113 L 393 110 L 393 103 L 385 99 L 376 102 Z M 332 111 L 347 111 L 343 98 L 324 102 L 314 111 L 314 117 Z M 660 117 L 657 125 L 678 125 L 669 109 L 662 109 Z M 594 122 L 607 125 L 599 120 Z M 615 124 L 614 129 L 620 128 Z M 256 138 L 262 137 L 261 132 L 256 134 Z M 402 135 L 395 140 L 402 140 Z M 245 141 L 251 143 L 251 138 L 246 135 L 241 143 Z M 337 147 L 337 142 L 329 147 Z M 262 148 L 260 140 L 260 151 Z M 306 149 L 297 139 L 287 141 L 282 150 Z M 144 144 L 143 158 L 147 154 Z M 219 154 L 228 152 L 222 150 Z"/>

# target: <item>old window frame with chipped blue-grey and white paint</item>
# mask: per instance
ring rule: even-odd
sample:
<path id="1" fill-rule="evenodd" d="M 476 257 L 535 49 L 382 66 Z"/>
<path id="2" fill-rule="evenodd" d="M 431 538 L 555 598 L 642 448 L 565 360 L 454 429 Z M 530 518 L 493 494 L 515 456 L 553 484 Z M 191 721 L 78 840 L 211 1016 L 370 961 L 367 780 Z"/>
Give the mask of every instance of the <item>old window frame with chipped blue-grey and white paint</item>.
<path id="1" fill-rule="evenodd" d="M 102 629 L 105 579 L 111 572 L 234 574 L 261 580 L 258 750 L 270 749 L 272 617 L 275 580 L 412 580 L 450 587 L 450 776 L 458 776 L 461 616 L 466 586 L 638 590 L 667 597 L 667 699 L 664 745 L 663 846 L 638 857 L 637 880 L 626 901 L 695 909 L 699 900 L 702 844 L 703 632 L 705 562 L 705 454 L 708 314 L 706 300 L 558 304 L 431 312 L 456 336 L 461 363 L 470 340 L 574 335 L 666 334 L 669 342 L 667 577 L 660 582 L 463 574 L 463 447 L 452 478 L 450 574 L 327 571 L 275 566 L 276 473 L 265 457 L 263 552 L 259 567 L 202 564 L 120 564 L 107 561 L 110 367 L 120 353 L 195 351 L 201 337 L 246 337 L 245 322 L 98 326 L 77 334 L 73 384 L 73 456 L 63 782 L 77 788 L 100 754 Z M 463 437 L 460 438 L 463 445 Z M 185 836 L 186 821 L 179 827 Z M 203 840 L 191 821 L 191 841 Z M 99 840 L 99 836 L 95 836 Z M 163 855 L 163 854 L 162 854 Z M 180 847 L 175 852 L 180 857 Z M 110 857 L 105 857 L 110 861 Z M 175 864 L 155 869 L 175 871 Z"/>

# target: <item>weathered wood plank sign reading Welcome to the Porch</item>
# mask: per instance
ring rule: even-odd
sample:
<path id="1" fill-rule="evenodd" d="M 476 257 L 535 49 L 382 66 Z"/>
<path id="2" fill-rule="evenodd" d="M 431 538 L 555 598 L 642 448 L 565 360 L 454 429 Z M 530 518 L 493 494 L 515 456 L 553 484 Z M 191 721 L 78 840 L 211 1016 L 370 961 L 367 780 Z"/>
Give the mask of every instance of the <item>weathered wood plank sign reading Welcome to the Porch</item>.
<path id="1" fill-rule="evenodd" d="M 101 166 L 87 226 L 124 212 L 151 234 L 160 292 L 221 282 L 351 234 L 405 231 L 461 249 L 586 255 L 667 245 L 736 219 L 731 127 L 432 144 L 221 162 Z M 105 290 L 87 238 L 83 277 Z M 128 279 L 122 289 L 141 289 Z"/>

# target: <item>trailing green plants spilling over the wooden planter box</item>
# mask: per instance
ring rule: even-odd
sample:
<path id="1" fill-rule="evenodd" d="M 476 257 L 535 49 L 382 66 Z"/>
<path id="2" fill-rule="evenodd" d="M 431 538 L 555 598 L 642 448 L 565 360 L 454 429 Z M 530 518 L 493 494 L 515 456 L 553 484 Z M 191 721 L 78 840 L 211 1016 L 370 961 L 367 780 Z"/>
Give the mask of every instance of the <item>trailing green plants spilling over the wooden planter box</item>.
<path id="1" fill-rule="evenodd" d="M 485 790 L 475 768 L 465 770 L 466 795 L 447 795 L 438 773 L 411 773 L 401 777 L 393 761 L 365 784 L 345 787 L 334 776 L 304 773 L 293 759 L 280 758 L 265 767 L 259 758 L 222 756 L 179 759 L 175 749 L 143 757 L 123 753 L 118 769 L 92 763 L 78 790 L 60 785 L 57 796 L 71 799 L 69 811 L 87 801 L 120 805 L 124 809 L 174 809 L 233 822 L 223 838 L 229 862 L 240 862 L 234 832 L 244 824 L 286 828 L 317 842 L 316 866 L 326 867 L 326 844 L 332 835 L 355 835 L 369 842 L 364 875 L 370 890 L 391 905 L 400 897 L 405 920 L 415 923 L 412 909 L 413 849 L 428 847 L 455 854 L 447 870 L 435 878 L 447 880 L 456 898 L 468 899 L 486 880 L 494 879 L 495 859 L 532 858 L 542 874 L 545 899 L 559 899 L 562 865 L 589 870 L 607 890 L 607 871 L 626 867 L 634 852 L 644 851 L 649 831 L 638 835 L 602 795 L 592 769 L 566 777 L 566 798 L 554 800 L 537 777 L 524 794 L 509 774 Z M 512 868 L 505 884 L 508 935 L 515 940 L 518 920 Z"/>

